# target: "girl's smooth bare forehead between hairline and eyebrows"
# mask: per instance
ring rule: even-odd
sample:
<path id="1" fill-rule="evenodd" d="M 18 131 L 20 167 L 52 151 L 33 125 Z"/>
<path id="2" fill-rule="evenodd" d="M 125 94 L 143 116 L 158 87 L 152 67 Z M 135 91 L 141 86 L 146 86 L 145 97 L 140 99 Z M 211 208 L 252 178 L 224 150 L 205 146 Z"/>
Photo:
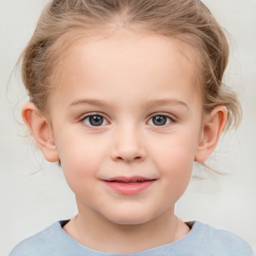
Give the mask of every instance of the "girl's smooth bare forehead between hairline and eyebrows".
<path id="1" fill-rule="evenodd" d="M 190 95 L 197 94 L 190 52 L 180 41 L 130 30 L 110 36 L 80 37 L 61 56 L 54 72 L 57 86 L 53 94 L 59 97 L 70 86 L 73 89 L 68 97 L 72 98 L 81 91 L 94 91 L 94 96 L 103 99 L 109 90 L 128 95 L 132 89 L 133 97 L 139 100 L 138 88 L 150 96 L 159 94 L 159 88 L 164 94 L 170 86 L 173 92 L 182 88 Z M 112 94 L 112 99 L 118 93 Z"/>

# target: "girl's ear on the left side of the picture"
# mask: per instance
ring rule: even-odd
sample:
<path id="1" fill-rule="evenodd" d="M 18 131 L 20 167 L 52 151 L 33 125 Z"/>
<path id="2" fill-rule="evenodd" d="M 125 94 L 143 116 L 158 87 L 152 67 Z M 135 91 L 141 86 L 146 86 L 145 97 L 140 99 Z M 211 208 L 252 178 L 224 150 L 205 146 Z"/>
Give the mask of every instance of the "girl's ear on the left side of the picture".
<path id="1" fill-rule="evenodd" d="M 50 162 L 59 160 L 54 135 L 49 121 L 39 113 L 32 102 L 22 107 L 22 118 L 41 149 L 44 158 Z"/>

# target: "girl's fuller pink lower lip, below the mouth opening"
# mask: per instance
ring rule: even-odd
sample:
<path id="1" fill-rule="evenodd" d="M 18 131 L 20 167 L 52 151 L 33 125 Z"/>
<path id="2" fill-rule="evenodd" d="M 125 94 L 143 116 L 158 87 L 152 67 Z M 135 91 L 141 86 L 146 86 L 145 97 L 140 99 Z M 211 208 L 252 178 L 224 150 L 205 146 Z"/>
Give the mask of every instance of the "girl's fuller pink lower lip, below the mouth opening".
<path id="1" fill-rule="evenodd" d="M 144 182 L 137 182 L 137 183 L 121 183 L 121 182 L 114 182 L 114 181 L 106 181 L 103 180 L 103 182 L 120 194 L 138 194 L 139 192 L 145 190 L 147 187 L 149 187 L 155 179 L 147 180 Z"/>

